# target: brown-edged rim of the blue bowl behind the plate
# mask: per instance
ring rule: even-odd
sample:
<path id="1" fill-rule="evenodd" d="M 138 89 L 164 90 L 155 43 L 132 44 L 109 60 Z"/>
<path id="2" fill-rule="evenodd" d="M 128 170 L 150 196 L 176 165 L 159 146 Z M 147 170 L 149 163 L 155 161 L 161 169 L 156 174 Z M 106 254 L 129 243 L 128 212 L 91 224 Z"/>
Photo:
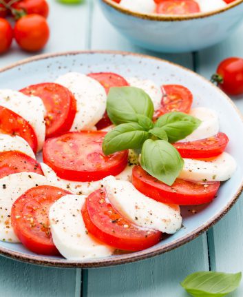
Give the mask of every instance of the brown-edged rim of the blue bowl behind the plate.
<path id="1" fill-rule="evenodd" d="M 100 0 L 100 1 L 107 4 L 107 6 L 114 8 L 118 12 L 130 15 L 131 17 L 137 17 L 139 19 L 147 19 L 149 21 L 189 21 L 192 19 L 204 19 L 206 17 L 211 17 L 213 15 L 220 14 L 222 12 L 230 10 L 231 8 L 234 8 L 235 6 L 238 6 L 241 3 L 243 3 L 243 0 L 235 0 L 232 3 L 227 4 L 225 8 L 220 8 L 218 10 L 211 10 L 210 12 L 184 14 L 180 16 L 180 15 L 169 15 L 169 14 L 162 15 L 162 14 L 153 14 L 153 13 L 147 14 L 147 13 L 141 13 L 141 12 L 134 12 L 133 10 L 123 8 L 113 0 Z"/>

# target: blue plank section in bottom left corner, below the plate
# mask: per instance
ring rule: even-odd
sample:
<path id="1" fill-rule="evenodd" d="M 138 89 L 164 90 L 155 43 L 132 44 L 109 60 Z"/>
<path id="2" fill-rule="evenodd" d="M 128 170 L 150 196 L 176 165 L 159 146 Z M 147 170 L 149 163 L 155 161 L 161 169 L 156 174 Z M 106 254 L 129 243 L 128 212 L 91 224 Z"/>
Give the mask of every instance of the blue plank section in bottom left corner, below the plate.
<path id="1" fill-rule="evenodd" d="M 0 258 L 1 297 L 79 297 L 77 269 L 53 269 Z"/>

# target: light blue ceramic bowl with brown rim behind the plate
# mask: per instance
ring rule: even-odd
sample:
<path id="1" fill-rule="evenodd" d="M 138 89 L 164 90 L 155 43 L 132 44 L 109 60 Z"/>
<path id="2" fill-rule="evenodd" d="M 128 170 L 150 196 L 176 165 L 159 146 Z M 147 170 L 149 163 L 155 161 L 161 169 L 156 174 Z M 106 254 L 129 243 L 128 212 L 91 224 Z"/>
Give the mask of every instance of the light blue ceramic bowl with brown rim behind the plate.
<path id="1" fill-rule="evenodd" d="M 243 0 L 224 9 L 181 17 L 142 14 L 122 8 L 113 0 L 98 1 L 105 17 L 121 34 L 156 52 L 202 50 L 229 37 L 243 20 Z"/>

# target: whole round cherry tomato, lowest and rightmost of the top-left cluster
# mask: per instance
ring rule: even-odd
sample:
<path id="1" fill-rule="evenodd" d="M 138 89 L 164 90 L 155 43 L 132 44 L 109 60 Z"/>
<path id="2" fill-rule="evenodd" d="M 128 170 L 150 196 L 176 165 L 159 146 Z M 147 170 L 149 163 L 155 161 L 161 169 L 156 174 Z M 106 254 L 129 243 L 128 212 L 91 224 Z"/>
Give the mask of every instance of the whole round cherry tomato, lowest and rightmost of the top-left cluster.
<path id="1" fill-rule="evenodd" d="M 36 52 L 42 50 L 49 39 L 47 21 L 39 14 L 21 17 L 14 27 L 14 37 L 23 50 Z"/>

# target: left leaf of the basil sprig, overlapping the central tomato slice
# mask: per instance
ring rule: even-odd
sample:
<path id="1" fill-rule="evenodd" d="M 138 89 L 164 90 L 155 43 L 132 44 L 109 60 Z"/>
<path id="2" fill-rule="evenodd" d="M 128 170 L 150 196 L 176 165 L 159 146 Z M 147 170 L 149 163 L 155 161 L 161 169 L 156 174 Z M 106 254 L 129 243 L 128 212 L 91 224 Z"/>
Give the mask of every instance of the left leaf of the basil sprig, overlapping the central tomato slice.
<path id="1" fill-rule="evenodd" d="M 102 149 L 105 155 L 121 150 L 138 149 L 148 138 L 149 133 L 138 123 L 121 124 L 105 135 Z"/>

